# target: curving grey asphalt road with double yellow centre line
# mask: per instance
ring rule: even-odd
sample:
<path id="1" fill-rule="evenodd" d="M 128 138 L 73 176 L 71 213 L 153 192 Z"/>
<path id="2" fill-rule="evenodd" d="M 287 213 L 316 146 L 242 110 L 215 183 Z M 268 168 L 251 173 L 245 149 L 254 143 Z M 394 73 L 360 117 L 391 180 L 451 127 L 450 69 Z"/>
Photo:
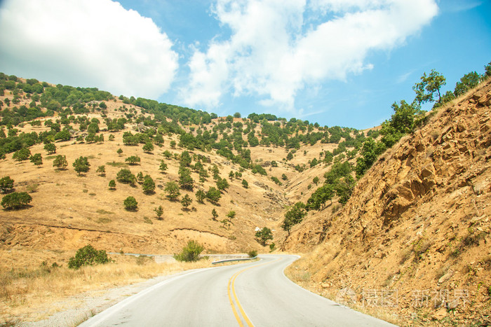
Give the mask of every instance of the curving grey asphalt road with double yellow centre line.
<path id="1" fill-rule="evenodd" d="M 80 326 L 393 326 L 290 281 L 297 256 L 260 258 L 167 279 Z"/>

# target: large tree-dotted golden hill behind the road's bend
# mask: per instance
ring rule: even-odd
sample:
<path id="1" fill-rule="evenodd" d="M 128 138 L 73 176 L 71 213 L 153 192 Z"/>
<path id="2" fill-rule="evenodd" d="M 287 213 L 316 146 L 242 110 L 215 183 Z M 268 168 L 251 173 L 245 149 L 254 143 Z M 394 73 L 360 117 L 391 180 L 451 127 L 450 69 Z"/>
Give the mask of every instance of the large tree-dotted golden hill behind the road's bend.
<path id="1" fill-rule="evenodd" d="M 10 176 L 11 191 L 32 196 L 28 207 L 2 211 L 0 240 L 6 248 L 74 251 L 93 244 L 110 252 L 158 254 L 176 253 L 196 239 L 207 253 L 262 249 L 257 228 L 275 230 L 274 242 L 281 241 L 285 209 L 308 197 L 314 176 L 331 164 L 332 151 L 342 148 L 336 153 L 342 160 L 365 139 L 354 129 L 294 118 L 220 118 L 95 88 L 0 77 L 7 127 L 0 135 L 5 153 L 0 178 Z M 46 144 L 53 144 L 55 153 L 48 153 Z M 147 144 L 151 150 L 144 150 Z M 42 165 L 16 160 L 15 153 L 25 148 L 41 154 Z M 53 167 L 58 155 L 65 156 L 66 169 Z M 90 169 L 77 174 L 72 164 L 81 156 Z M 130 157 L 140 162 L 132 165 Z M 183 157 L 189 160 L 183 163 Z M 101 166 L 104 173 L 97 172 Z M 180 185 L 180 196 L 170 200 L 165 189 L 169 182 L 180 183 L 181 167 L 191 184 Z M 121 169 L 151 176 L 154 191 L 144 193 L 142 181 L 120 183 Z M 111 180 L 115 189 L 109 188 Z M 198 200 L 196 192 L 218 188 L 221 180 L 229 187 L 220 190 L 220 200 Z M 125 209 L 128 196 L 137 200 L 137 211 Z M 193 200 L 188 208 L 180 203 L 185 196 Z M 154 211 L 159 206 L 162 219 Z M 234 218 L 227 218 L 230 211 Z"/>

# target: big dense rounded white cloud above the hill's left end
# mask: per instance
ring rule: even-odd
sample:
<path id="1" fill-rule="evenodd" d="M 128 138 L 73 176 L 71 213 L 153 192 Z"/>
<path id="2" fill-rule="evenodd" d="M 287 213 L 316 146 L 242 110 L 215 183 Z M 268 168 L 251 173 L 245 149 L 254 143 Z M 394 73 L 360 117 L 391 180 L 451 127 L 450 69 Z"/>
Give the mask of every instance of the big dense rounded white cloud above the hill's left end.
<path id="1" fill-rule="evenodd" d="M 0 8 L 0 70 L 116 95 L 156 98 L 178 68 L 150 18 L 110 0 L 10 0 Z"/>

